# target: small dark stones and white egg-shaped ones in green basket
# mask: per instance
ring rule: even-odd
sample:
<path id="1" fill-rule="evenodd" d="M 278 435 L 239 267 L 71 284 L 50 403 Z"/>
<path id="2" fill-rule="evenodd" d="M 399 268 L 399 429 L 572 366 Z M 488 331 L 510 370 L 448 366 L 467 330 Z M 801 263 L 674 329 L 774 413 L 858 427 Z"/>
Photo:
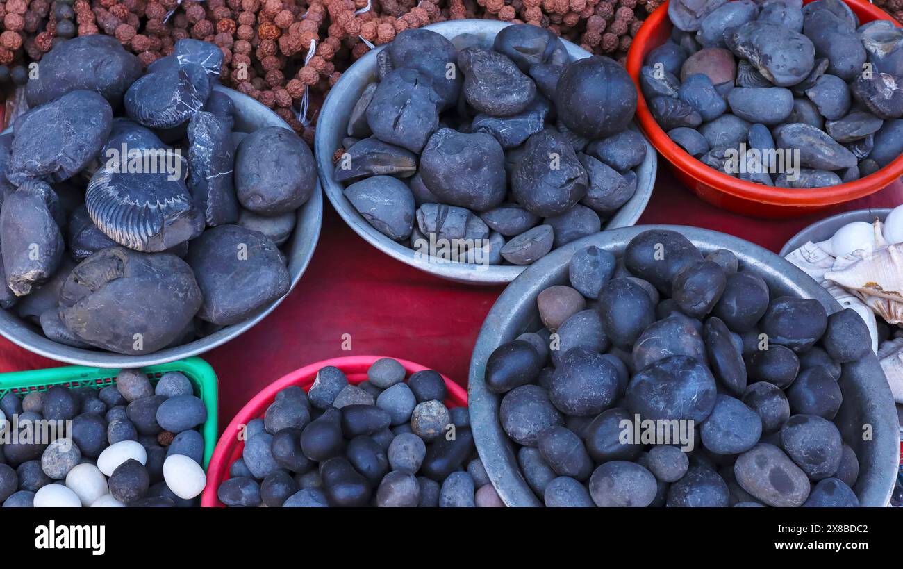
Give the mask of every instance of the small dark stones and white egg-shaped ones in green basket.
<path id="1" fill-rule="evenodd" d="M 4 508 L 187 508 L 207 485 L 198 432 L 207 407 L 182 373 L 152 385 L 138 369 L 116 384 L 50 387 L 0 399 Z M 56 433 L 53 441 L 43 433 Z"/>

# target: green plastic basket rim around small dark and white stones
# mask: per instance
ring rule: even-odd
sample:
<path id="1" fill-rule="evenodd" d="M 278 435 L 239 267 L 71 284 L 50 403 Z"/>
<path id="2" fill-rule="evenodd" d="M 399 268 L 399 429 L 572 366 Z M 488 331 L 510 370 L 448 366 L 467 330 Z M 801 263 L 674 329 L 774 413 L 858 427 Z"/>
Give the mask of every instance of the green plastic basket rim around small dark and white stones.
<path id="1" fill-rule="evenodd" d="M 195 394 L 207 407 L 207 422 L 200 429 L 204 437 L 204 470 L 213 455 L 217 444 L 217 415 L 219 399 L 217 396 L 217 374 L 209 363 L 200 358 L 182 359 L 150 368 L 141 368 L 151 383 L 157 381 L 168 371 L 181 371 L 194 386 Z M 86 368 L 84 366 L 66 366 L 63 368 L 32 369 L 0 373 L 0 399 L 8 394 L 24 396 L 30 391 L 43 391 L 52 386 L 67 387 L 107 387 L 116 383 L 118 369 Z"/>

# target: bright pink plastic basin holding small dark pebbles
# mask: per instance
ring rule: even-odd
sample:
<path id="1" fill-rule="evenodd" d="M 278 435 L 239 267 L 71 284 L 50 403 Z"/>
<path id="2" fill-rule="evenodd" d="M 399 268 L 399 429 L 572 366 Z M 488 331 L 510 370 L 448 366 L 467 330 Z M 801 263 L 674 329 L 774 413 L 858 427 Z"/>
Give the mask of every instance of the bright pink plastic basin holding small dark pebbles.
<path id="1" fill-rule="evenodd" d="M 254 396 L 247 404 L 241 408 L 241 411 L 235 415 L 235 418 L 228 424 L 222 436 L 219 437 L 216 449 L 213 450 L 213 458 L 210 459 L 210 465 L 207 469 L 207 487 L 200 497 L 200 506 L 202 508 L 225 508 L 217 497 L 217 490 L 223 481 L 228 480 L 228 469 L 232 462 L 235 462 L 245 449 L 245 443 L 238 440 L 237 434 L 240 433 L 245 425 L 252 419 L 262 418 L 266 411 L 266 407 L 270 406 L 275 400 L 276 393 L 289 386 L 303 387 L 304 391 L 310 390 L 313 380 L 317 378 L 317 372 L 321 368 L 333 366 L 340 368 L 349 383 L 357 385 L 367 380 L 367 370 L 373 365 L 377 359 L 384 356 L 348 356 L 346 358 L 324 359 L 317 363 L 312 363 L 304 368 L 295 369 L 292 373 L 276 379 L 270 385 L 264 387 L 256 396 Z M 408 377 L 417 371 L 423 371 L 425 368 L 420 364 L 406 359 L 393 358 L 405 368 Z M 445 399 L 445 406 L 461 407 L 467 406 L 467 390 L 459 386 L 451 379 L 444 375 L 445 387 L 448 388 L 448 397 Z"/>

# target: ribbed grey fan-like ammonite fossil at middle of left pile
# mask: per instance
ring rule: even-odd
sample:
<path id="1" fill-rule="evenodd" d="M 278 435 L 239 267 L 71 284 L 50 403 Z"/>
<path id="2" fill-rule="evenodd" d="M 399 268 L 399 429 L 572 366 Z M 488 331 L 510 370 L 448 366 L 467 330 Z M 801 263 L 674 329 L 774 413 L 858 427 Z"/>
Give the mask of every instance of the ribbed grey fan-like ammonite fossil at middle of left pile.
<path id="1" fill-rule="evenodd" d="M 167 173 L 101 168 L 91 177 L 85 205 L 98 229 L 135 251 L 163 251 L 198 237 L 205 225 L 185 182 Z"/>

